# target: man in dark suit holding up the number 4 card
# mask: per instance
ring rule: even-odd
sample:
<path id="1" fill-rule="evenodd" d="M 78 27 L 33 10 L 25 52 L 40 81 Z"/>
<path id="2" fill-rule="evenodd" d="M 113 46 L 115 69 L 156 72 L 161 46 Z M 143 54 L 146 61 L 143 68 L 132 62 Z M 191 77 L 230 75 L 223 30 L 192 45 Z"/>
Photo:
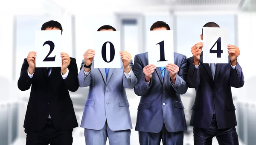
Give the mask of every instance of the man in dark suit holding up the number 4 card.
<path id="1" fill-rule="evenodd" d="M 204 27 L 219 26 L 208 22 Z M 194 126 L 194 145 L 212 145 L 213 137 L 217 138 L 219 145 L 238 145 L 231 86 L 239 88 L 244 85 L 243 71 L 236 61 L 240 50 L 227 45 L 230 63 L 204 64 L 203 46 L 203 42 L 195 44 L 191 48 L 193 56 L 187 59 L 187 84 L 196 90 L 190 120 L 190 125 Z"/>

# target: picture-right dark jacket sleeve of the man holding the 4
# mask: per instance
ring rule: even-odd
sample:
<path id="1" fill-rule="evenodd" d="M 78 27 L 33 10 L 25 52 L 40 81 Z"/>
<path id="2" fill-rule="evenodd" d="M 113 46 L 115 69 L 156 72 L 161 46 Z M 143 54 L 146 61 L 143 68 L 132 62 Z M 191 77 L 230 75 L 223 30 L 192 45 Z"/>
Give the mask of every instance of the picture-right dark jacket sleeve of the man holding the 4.
<path id="1" fill-rule="evenodd" d="M 238 62 L 236 62 L 235 69 L 230 68 L 230 85 L 235 88 L 244 86 L 244 74 Z"/>

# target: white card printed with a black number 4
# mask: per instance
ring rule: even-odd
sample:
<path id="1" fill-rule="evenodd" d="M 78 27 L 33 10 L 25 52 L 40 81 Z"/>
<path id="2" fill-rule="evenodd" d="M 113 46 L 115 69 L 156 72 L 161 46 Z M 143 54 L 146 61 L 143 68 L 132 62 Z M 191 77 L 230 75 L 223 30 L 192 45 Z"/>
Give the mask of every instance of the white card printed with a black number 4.
<path id="1" fill-rule="evenodd" d="M 203 28 L 203 62 L 227 64 L 227 29 L 225 28 Z"/>

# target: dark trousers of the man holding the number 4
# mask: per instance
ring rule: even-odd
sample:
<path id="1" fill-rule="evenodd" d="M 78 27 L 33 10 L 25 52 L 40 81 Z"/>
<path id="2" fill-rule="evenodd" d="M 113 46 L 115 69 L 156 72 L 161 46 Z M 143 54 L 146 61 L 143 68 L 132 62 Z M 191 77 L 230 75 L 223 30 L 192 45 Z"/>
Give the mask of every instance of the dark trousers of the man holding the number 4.
<path id="1" fill-rule="evenodd" d="M 213 137 L 219 145 L 239 145 L 236 128 L 218 129 L 214 118 L 209 129 L 194 127 L 194 145 L 212 145 Z"/>

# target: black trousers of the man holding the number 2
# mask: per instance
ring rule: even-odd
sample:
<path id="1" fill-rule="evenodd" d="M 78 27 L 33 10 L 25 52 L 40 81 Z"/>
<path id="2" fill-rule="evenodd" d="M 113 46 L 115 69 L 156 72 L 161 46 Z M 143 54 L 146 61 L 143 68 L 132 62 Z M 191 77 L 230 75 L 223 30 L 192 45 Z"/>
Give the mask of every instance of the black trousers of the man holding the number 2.
<path id="1" fill-rule="evenodd" d="M 26 145 L 72 145 L 73 129 L 58 131 L 52 124 L 46 124 L 41 131 L 25 129 Z"/>

